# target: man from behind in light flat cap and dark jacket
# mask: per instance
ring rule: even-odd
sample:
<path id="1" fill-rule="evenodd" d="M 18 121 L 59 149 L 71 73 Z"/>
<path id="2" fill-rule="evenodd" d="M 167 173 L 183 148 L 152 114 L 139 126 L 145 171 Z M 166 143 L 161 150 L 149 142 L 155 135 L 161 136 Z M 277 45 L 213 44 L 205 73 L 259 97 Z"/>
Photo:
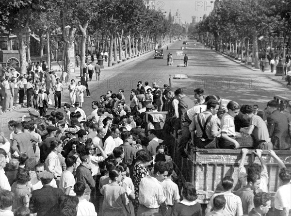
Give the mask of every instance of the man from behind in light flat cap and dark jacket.
<path id="1" fill-rule="evenodd" d="M 44 216 L 52 207 L 59 206 L 65 199 L 65 195 L 62 189 L 49 185 L 54 178 L 50 172 L 40 173 L 39 178 L 44 186 L 39 190 L 32 191 L 29 209 L 31 214 L 37 213 L 37 216 Z"/>

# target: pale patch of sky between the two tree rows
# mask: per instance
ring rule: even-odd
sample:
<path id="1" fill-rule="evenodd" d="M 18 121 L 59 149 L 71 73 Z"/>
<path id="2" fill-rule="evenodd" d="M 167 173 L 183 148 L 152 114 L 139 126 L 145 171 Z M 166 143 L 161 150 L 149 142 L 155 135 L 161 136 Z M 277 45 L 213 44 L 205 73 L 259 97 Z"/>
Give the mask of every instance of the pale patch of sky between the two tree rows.
<path id="1" fill-rule="evenodd" d="M 213 3 L 211 0 L 154 0 L 155 10 L 166 11 L 166 16 L 169 16 L 169 11 L 171 9 L 171 14 L 174 16 L 179 10 L 183 23 L 192 22 L 192 16 L 198 17 L 196 21 L 200 20 L 204 14 L 209 15 L 210 11 L 213 9 Z"/>

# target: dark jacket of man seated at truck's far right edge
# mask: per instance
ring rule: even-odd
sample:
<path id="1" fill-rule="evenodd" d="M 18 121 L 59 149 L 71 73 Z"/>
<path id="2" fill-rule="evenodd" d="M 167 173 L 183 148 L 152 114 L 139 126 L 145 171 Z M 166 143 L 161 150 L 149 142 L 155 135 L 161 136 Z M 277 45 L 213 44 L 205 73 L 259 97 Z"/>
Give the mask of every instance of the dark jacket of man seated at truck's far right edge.
<path id="1" fill-rule="evenodd" d="M 267 117 L 267 127 L 274 150 L 286 150 L 291 147 L 291 138 L 288 133 L 288 119 L 279 110 L 275 110 Z"/>

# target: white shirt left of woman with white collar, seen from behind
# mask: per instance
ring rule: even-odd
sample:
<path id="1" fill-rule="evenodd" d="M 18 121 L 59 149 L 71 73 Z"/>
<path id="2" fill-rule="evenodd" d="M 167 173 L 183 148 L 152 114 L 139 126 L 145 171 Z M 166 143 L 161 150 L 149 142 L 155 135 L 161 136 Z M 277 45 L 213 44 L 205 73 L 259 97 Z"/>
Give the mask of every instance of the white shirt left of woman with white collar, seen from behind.
<path id="1" fill-rule="evenodd" d="M 175 200 L 180 199 L 178 185 L 171 179 L 165 179 L 162 183 L 162 189 L 166 199 L 166 205 L 174 205 Z"/>

